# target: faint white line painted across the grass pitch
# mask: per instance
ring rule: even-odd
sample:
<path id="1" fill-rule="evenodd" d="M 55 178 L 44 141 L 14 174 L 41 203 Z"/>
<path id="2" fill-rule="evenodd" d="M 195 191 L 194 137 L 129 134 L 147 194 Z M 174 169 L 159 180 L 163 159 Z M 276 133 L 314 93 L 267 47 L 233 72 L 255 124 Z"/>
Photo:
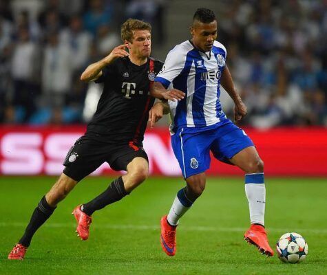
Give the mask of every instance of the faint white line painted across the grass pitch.
<path id="1" fill-rule="evenodd" d="M 25 228 L 27 223 L 0 223 L 1 228 Z M 47 228 L 74 228 L 75 223 L 46 223 L 43 225 Z M 157 225 L 134 225 L 134 224 L 92 224 L 92 228 L 103 229 L 119 229 L 119 230 L 159 230 Z M 203 231 L 203 232 L 245 232 L 247 228 L 215 228 L 210 226 L 180 226 L 181 231 Z M 326 229 L 310 229 L 310 228 L 267 228 L 268 232 L 300 232 L 310 234 L 327 234 Z"/>

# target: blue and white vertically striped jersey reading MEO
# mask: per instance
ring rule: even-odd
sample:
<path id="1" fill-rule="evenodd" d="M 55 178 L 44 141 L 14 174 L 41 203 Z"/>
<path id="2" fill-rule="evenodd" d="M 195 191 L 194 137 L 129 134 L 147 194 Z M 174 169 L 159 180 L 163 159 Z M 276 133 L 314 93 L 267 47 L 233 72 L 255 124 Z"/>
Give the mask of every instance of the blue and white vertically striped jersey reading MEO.
<path id="1" fill-rule="evenodd" d="M 226 48 L 218 41 L 206 53 L 196 50 L 191 41 L 184 41 L 169 52 L 155 81 L 186 94 L 183 100 L 169 101 L 171 131 L 180 127 L 202 128 L 226 119 L 219 100 L 226 54 Z"/>

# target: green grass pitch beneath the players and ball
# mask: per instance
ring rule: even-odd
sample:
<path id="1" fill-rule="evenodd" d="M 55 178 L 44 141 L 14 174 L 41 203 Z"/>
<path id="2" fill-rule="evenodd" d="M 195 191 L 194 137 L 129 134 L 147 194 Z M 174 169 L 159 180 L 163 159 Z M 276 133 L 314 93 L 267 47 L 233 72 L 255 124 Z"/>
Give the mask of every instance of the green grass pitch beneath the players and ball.
<path id="1" fill-rule="evenodd" d="M 209 178 L 207 188 L 180 221 L 177 253 L 159 242 L 181 178 L 150 177 L 132 195 L 94 213 L 88 241 L 75 233 L 72 209 L 102 192 L 112 179 L 87 177 L 40 228 L 24 261 L 8 261 L 36 203 L 54 177 L 0 178 L 0 274 L 327 274 L 327 180 L 266 177 L 266 228 L 279 236 L 298 232 L 308 242 L 304 263 L 266 258 L 243 240 L 249 214 L 243 179 Z"/>

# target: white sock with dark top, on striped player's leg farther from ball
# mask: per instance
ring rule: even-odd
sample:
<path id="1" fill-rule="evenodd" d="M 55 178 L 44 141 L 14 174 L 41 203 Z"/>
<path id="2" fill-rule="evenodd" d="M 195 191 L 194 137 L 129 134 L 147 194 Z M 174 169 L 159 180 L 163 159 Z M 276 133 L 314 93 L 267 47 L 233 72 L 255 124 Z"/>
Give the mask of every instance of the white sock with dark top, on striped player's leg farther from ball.
<path id="1" fill-rule="evenodd" d="M 168 223 L 170 225 L 178 225 L 178 220 L 191 208 L 192 204 L 193 201 L 186 196 L 184 188 L 180 189 L 169 210 L 167 216 Z"/>

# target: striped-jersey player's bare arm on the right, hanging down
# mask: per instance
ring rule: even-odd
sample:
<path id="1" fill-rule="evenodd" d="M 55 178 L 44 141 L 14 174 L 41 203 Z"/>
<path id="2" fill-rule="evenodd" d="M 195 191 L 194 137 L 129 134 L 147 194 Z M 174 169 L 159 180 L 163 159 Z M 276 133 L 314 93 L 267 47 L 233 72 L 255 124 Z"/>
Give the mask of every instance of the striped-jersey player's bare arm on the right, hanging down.
<path id="1" fill-rule="evenodd" d="M 242 101 L 242 98 L 238 94 L 238 92 L 235 89 L 233 79 L 231 78 L 231 73 L 229 72 L 229 68 L 227 65 L 224 68 L 224 71 L 222 72 L 222 78 L 220 80 L 220 83 L 222 84 L 222 87 L 226 90 L 226 92 L 231 96 L 235 103 L 234 108 L 234 120 L 235 122 L 242 120 L 242 118 L 246 115 L 246 106 Z"/>

